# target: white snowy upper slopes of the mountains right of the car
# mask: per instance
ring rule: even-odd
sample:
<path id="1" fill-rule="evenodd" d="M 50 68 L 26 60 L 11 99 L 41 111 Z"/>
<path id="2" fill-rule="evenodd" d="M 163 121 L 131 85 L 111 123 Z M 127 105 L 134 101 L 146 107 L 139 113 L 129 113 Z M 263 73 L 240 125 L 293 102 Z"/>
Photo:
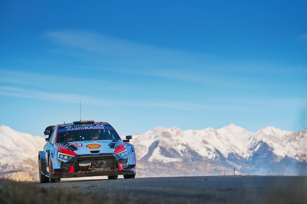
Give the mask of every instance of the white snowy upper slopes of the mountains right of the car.
<path id="1" fill-rule="evenodd" d="M 132 143 L 138 149 L 138 159 L 144 158 L 149 153 L 150 147 L 153 148 L 154 143 L 159 143 L 153 149 L 155 157 L 149 159 L 169 162 L 174 159 L 179 161 L 179 158 L 165 158 L 163 154 L 159 154 L 160 150 L 158 151 L 157 148 L 172 149 L 180 156 L 183 156 L 185 150 L 190 149 L 210 160 L 218 159 L 220 154 L 225 158 L 228 158 L 230 154 L 235 154 L 248 160 L 258 150 L 261 141 L 273 148 L 273 152 L 277 156 L 307 161 L 307 134 L 304 129 L 300 132 L 290 132 L 266 127 L 253 133 L 234 124 L 217 130 L 206 128 L 186 131 L 177 127 L 163 128 L 158 126 L 153 131 L 134 135 Z"/>

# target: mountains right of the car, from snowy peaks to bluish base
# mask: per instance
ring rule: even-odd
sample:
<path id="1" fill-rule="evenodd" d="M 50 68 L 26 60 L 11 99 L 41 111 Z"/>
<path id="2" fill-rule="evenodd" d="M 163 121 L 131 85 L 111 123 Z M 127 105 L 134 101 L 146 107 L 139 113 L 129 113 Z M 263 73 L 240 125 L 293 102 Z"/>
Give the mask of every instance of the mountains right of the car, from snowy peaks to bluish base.
<path id="1" fill-rule="evenodd" d="M 267 127 L 253 133 L 234 124 L 217 130 L 186 131 L 158 126 L 142 135 L 134 135 L 131 143 L 143 164 L 152 166 L 154 163 L 171 173 L 172 166 L 181 163 L 180 169 L 172 172 L 176 175 L 177 170 L 189 175 L 230 174 L 234 167 L 246 174 L 307 173 L 304 129 L 290 132 Z M 146 165 L 141 167 L 146 169 Z M 159 171 L 164 172 L 161 169 Z"/>

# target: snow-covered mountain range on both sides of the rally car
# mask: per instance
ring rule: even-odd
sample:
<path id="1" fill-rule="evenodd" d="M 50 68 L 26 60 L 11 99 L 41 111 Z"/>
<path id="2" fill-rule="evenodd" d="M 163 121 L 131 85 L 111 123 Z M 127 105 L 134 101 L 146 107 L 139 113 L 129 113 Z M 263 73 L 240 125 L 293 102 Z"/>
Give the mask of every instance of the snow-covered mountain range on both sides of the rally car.
<path id="1" fill-rule="evenodd" d="M 130 142 L 138 176 L 307 173 L 307 133 L 267 127 L 257 132 L 230 124 L 183 131 L 158 126 Z M 30 173 L 37 179 L 37 155 L 45 139 L 0 126 L 0 171 Z"/>

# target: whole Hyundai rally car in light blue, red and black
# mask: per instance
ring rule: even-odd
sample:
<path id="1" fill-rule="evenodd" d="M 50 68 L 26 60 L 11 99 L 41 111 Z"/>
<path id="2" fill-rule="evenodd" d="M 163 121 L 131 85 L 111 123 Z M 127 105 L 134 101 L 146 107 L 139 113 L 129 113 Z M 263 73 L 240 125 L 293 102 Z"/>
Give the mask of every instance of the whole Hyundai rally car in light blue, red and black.
<path id="1" fill-rule="evenodd" d="M 38 154 L 41 183 L 85 176 L 135 177 L 132 136 L 122 140 L 109 123 L 77 121 L 48 126 L 44 134 L 47 143 Z"/>

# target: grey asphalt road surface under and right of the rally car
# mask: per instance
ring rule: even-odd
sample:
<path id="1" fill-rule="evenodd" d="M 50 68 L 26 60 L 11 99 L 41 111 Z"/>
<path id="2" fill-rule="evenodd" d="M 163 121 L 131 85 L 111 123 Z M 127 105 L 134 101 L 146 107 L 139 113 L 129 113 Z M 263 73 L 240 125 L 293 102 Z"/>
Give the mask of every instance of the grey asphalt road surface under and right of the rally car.
<path id="1" fill-rule="evenodd" d="M 186 176 L 40 184 L 128 203 L 307 203 L 307 176 Z"/>

